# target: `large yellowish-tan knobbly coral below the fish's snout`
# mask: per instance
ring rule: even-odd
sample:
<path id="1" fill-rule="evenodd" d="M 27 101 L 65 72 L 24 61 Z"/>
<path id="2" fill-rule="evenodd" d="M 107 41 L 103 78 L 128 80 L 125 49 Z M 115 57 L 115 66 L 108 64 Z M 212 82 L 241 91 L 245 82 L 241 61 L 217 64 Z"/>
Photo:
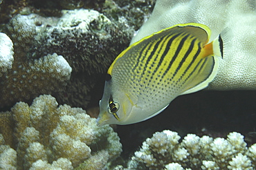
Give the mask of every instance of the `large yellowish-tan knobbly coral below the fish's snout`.
<path id="1" fill-rule="evenodd" d="M 0 135 L 2 169 L 103 169 L 120 155 L 122 144 L 110 126 L 97 126 L 82 108 L 57 105 L 51 95 L 40 95 L 31 106 L 12 107 L 15 132 L 9 135 L 17 147 Z"/>

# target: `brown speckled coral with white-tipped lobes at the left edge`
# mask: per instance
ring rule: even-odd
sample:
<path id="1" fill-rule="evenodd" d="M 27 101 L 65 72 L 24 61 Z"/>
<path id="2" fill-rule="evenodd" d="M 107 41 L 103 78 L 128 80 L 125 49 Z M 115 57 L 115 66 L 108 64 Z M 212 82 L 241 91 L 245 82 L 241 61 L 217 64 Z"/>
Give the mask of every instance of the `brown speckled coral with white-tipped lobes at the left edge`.
<path id="1" fill-rule="evenodd" d="M 42 55 L 37 59 L 30 56 L 30 46 L 35 44 L 37 31 L 35 23 L 28 17 L 17 15 L 8 23 L 7 29 L 14 44 L 14 61 L 11 68 L 8 66 L 10 69 L 2 69 L 0 74 L 0 107 L 29 100 L 39 94 L 59 91 L 71 76 L 72 68 L 66 59 L 56 53 Z M 2 39 L 10 46 L 12 43 L 9 40 Z M 4 55 L 4 51 L 1 54 Z M 9 60 L 8 57 L 3 58 L 1 65 Z"/>

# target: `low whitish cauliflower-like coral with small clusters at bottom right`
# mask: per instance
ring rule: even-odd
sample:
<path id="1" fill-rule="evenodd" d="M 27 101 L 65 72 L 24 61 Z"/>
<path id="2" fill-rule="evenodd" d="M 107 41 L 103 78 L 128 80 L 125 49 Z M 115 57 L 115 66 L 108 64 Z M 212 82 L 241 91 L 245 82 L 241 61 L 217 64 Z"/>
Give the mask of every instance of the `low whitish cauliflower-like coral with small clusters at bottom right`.
<path id="1" fill-rule="evenodd" d="M 229 133 L 226 139 L 194 134 L 186 135 L 181 142 L 180 139 L 174 131 L 154 133 L 134 153 L 127 169 L 256 168 L 256 144 L 247 147 L 240 133 Z"/>

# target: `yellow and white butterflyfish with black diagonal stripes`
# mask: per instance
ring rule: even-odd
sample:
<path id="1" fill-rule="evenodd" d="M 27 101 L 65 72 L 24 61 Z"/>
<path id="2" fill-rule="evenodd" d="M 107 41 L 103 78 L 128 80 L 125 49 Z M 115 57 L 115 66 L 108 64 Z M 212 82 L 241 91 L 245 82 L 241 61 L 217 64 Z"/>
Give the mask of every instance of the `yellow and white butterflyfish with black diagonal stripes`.
<path id="1" fill-rule="evenodd" d="M 132 44 L 113 61 L 100 100 L 98 125 L 133 124 L 161 113 L 179 95 L 208 86 L 223 44 L 210 28 L 185 23 Z"/>

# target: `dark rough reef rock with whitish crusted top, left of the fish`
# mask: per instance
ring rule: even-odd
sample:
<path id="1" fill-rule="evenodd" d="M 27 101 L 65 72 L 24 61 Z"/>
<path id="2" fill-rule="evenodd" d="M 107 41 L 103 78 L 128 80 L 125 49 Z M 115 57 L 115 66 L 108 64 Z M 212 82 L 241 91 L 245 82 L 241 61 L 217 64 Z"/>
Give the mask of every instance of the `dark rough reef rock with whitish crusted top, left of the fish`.
<path id="1" fill-rule="evenodd" d="M 51 24 L 38 37 L 33 55 L 64 56 L 73 73 L 64 91 L 55 96 L 62 104 L 85 107 L 90 99 L 89 91 L 100 77 L 103 81 L 107 68 L 128 46 L 134 30 L 120 21 L 110 21 L 95 10 L 63 10 L 62 13 L 56 26 Z M 43 21 L 42 26 L 46 25 L 47 21 Z"/>

